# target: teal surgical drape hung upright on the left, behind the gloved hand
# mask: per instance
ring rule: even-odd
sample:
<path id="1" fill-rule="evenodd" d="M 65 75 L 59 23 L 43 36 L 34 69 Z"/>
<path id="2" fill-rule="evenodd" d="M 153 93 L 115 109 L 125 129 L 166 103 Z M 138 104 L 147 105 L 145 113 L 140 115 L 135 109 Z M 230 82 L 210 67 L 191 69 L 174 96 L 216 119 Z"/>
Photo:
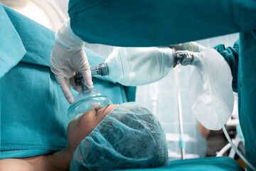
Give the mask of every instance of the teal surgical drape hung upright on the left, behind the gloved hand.
<path id="1" fill-rule="evenodd" d="M 0 19 L 0 159 L 62 150 L 68 145 L 70 105 L 50 71 L 55 33 L 1 4 Z M 85 52 L 91 66 L 105 61 Z M 93 83 L 112 103 L 134 100 L 134 88 L 110 78 L 95 77 Z"/>

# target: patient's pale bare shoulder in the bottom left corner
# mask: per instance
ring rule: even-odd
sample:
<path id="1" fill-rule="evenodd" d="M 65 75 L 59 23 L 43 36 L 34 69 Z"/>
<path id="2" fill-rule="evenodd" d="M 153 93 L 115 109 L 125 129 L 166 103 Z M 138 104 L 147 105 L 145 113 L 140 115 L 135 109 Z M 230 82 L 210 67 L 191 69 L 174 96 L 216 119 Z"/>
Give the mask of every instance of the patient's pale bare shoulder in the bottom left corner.
<path id="1" fill-rule="evenodd" d="M 2 159 L 0 171 L 33 171 L 33 165 L 21 159 Z"/>

